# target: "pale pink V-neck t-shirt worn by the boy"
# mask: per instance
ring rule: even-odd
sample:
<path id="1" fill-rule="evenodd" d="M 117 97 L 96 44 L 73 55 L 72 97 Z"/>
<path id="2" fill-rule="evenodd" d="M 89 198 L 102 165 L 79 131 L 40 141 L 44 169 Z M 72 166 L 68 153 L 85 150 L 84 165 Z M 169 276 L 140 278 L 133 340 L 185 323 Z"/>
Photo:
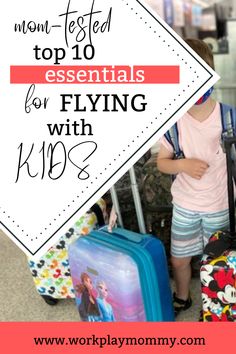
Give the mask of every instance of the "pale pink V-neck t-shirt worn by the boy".
<path id="1" fill-rule="evenodd" d="M 193 211 L 217 212 L 228 208 L 226 156 L 220 142 L 222 124 L 220 105 L 203 122 L 186 113 L 178 121 L 179 144 L 185 158 L 205 161 L 209 168 L 200 180 L 179 173 L 171 193 L 173 203 Z M 161 144 L 173 152 L 165 137 Z"/>

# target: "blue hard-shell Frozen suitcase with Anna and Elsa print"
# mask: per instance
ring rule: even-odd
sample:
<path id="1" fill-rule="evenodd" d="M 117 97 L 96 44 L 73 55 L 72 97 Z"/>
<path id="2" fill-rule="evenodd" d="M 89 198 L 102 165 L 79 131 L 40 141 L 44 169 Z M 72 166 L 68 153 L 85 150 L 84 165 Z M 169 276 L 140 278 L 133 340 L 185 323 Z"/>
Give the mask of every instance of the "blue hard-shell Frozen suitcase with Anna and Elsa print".
<path id="1" fill-rule="evenodd" d="M 157 238 L 105 227 L 73 242 L 69 262 L 82 321 L 174 321 L 166 255 Z"/>

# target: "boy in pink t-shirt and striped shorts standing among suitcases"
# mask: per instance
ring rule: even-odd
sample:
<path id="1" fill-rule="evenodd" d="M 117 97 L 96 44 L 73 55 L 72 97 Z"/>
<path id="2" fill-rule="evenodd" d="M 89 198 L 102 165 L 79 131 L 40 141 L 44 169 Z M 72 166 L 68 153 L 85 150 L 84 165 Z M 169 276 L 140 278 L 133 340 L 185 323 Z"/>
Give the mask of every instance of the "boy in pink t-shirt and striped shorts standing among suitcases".
<path id="1" fill-rule="evenodd" d="M 197 39 L 187 44 L 214 69 L 208 46 Z M 175 314 L 192 305 L 189 294 L 191 258 L 203 253 L 209 237 L 228 228 L 226 157 L 221 148 L 220 105 L 209 90 L 178 121 L 179 145 L 184 159 L 173 160 L 173 148 L 161 139 L 158 169 L 176 175 L 171 187 L 173 218 L 171 261 L 176 292 Z"/>

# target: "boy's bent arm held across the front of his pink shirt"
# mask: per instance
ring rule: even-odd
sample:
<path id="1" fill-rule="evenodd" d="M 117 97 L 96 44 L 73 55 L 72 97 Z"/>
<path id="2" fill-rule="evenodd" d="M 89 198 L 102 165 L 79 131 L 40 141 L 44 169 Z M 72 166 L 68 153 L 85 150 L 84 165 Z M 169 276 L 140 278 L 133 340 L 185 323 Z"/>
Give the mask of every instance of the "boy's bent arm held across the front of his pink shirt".
<path id="1" fill-rule="evenodd" d="M 201 179 L 208 164 L 198 159 L 173 160 L 174 154 L 161 144 L 157 158 L 157 168 L 159 171 L 171 175 L 184 172 L 192 178 Z"/>

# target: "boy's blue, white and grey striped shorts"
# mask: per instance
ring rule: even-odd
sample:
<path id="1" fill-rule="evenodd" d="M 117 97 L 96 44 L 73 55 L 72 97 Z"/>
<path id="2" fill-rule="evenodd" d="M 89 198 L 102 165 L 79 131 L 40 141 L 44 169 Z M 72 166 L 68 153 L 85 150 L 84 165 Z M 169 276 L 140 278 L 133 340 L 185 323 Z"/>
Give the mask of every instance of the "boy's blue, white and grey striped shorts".
<path id="1" fill-rule="evenodd" d="M 191 257 L 203 254 L 210 236 L 229 228 L 229 212 L 195 212 L 174 205 L 171 227 L 171 254 Z"/>

